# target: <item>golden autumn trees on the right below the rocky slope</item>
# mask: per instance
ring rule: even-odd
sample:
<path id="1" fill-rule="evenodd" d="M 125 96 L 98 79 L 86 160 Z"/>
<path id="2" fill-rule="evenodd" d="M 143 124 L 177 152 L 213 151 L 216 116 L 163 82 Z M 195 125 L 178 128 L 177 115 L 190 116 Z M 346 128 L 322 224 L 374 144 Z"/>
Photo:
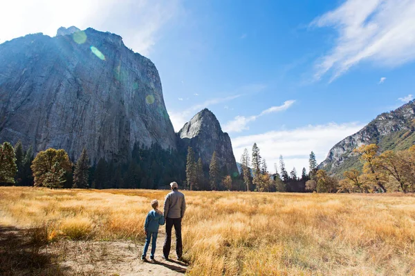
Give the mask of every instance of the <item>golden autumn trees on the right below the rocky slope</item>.
<path id="1" fill-rule="evenodd" d="M 317 193 L 387 193 L 415 192 L 415 146 L 407 150 L 379 152 L 376 144 L 353 150 L 359 156 L 362 170 L 343 172 L 342 179 L 317 170 L 306 183 L 306 189 Z"/>

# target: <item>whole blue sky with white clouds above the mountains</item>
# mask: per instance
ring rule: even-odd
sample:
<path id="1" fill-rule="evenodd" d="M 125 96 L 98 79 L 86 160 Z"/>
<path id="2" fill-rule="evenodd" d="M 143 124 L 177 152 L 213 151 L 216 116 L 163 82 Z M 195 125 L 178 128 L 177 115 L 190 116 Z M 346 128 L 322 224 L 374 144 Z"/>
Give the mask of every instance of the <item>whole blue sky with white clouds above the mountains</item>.
<path id="1" fill-rule="evenodd" d="M 0 3 L 0 43 L 118 33 L 156 64 L 176 131 L 207 107 L 237 161 L 256 141 L 269 170 L 283 155 L 299 172 L 415 95 L 413 14 L 409 0 L 17 0 Z"/>

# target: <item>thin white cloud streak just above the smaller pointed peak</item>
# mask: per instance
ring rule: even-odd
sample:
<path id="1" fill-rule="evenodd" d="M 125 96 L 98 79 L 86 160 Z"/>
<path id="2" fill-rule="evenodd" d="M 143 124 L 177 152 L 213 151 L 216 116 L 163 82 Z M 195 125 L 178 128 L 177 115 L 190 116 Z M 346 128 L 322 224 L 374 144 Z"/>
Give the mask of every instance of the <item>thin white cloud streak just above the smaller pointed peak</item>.
<path id="1" fill-rule="evenodd" d="M 192 118 L 190 116 L 195 115 L 196 111 L 199 112 L 200 110 L 202 110 L 203 108 L 207 108 L 208 106 L 213 106 L 218 103 L 223 103 L 225 101 L 237 99 L 238 97 L 241 97 L 241 95 L 233 95 L 233 96 L 224 97 L 224 98 L 208 99 L 207 101 L 204 101 L 203 103 L 198 103 L 183 111 L 179 111 L 179 112 L 169 111 L 170 121 L 172 121 L 175 131 L 181 130 L 184 124 L 186 124 L 186 122 Z"/>

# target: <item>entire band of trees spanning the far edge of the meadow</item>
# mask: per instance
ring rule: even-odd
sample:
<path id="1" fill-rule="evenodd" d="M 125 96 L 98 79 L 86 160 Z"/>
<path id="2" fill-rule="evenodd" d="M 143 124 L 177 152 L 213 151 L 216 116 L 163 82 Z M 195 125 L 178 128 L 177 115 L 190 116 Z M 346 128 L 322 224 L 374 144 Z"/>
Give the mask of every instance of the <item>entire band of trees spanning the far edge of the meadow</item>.
<path id="1" fill-rule="evenodd" d="M 284 159 L 268 172 L 266 160 L 255 143 L 252 152 L 243 150 L 241 174 L 230 175 L 220 166 L 216 152 L 210 164 L 203 164 L 191 147 L 165 150 L 158 144 L 133 146 L 127 162 L 116 164 L 100 159 L 90 166 L 86 149 L 73 164 L 65 150 L 49 148 L 33 155 L 21 142 L 13 147 L 0 144 L 0 185 L 44 186 L 48 188 L 166 188 L 179 181 L 190 190 L 246 190 L 259 192 L 386 193 L 415 192 L 415 146 L 407 150 L 380 153 L 376 144 L 353 150 L 362 170 L 347 170 L 341 178 L 317 168 L 315 154 L 309 157 L 309 170 L 301 175 L 286 170 Z"/>

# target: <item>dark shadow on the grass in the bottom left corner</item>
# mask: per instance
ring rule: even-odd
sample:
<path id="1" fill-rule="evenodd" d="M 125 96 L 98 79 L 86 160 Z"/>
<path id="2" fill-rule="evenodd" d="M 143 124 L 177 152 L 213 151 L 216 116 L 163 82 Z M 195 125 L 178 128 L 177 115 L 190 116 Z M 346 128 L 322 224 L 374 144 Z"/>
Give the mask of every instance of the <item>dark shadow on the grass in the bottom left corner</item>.
<path id="1" fill-rule="evenodd" d="M 44 231 L 0 225 L 0 275 L 63 275 Z"/>

